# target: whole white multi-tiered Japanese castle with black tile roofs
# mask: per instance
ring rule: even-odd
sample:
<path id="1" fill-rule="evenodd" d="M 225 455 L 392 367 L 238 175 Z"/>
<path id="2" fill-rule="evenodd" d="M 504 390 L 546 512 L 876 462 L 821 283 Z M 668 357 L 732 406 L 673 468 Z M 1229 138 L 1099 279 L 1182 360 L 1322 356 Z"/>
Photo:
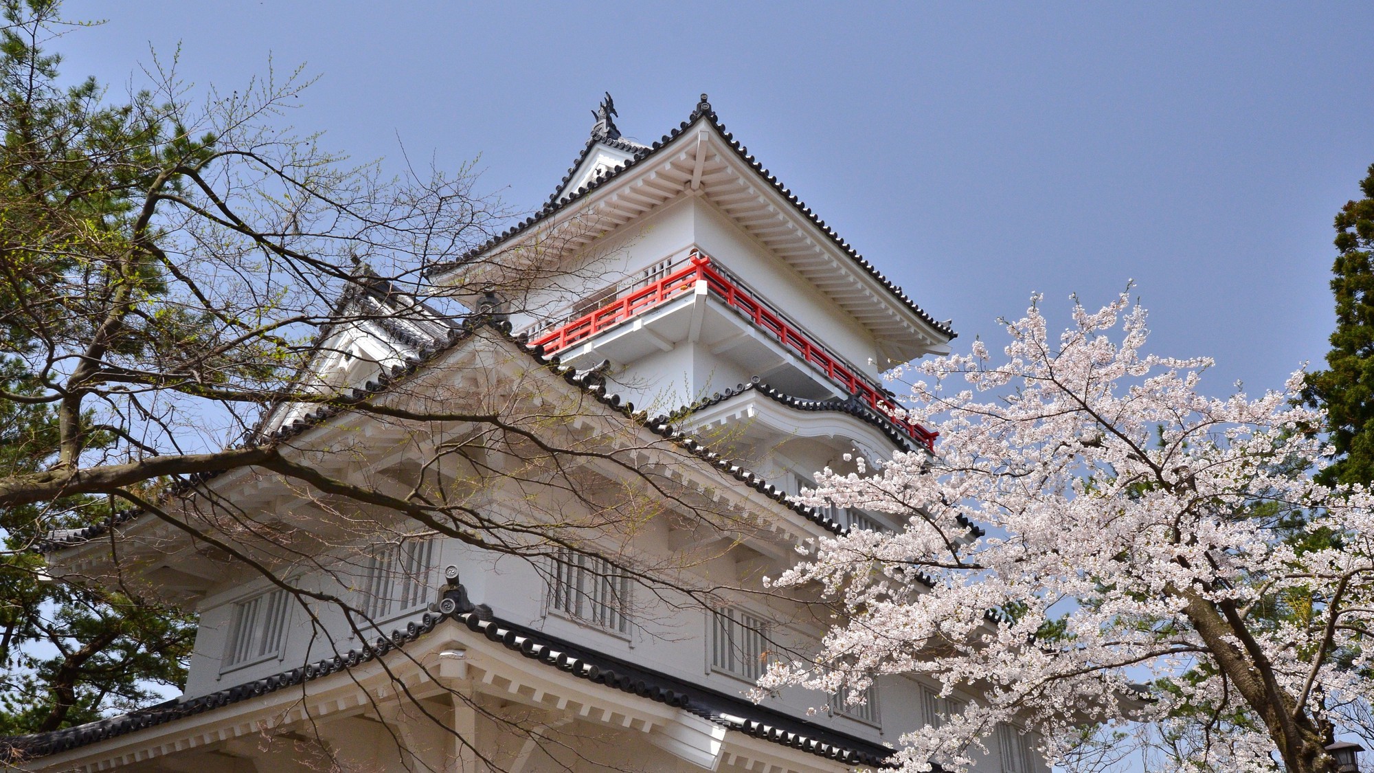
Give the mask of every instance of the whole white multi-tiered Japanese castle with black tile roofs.
<path id="1" fill-rule="evenodd" d="M 958 695 L 905 677 L 878 678 L 857 706 L 743 695 L 826 626 L 812 598 L 763 578 L 808 539 L 901 528 L 793 497 L 856 455 L 933 447 L 893 413 L 882 373 L 948 352 L 949 323 L 764 169 L 706 95 L 653 143 L 621 133 L 610 95 L 594 116 L 536 215 L 430 272 L 462 287 L 474 322 L 364 285 L 341 308 L 365 314 L 330 330 L 316 377 L 360 402 L 497 413 L 515 435 L 595 451 L 591 462 L 536 480 L 519 466 L 530 444 L 497 447 L 477 420 L 405 431 L 306 402 L 260 429 L 322 475 L 397 491 L 430 481 L 453 512 L 545 530 L 522 543 L 530 556 L 249 473 L 196 481 L 187 501 L 213 494 L 256 527 L 308 530 L 317 553 L 256 546 L 251 530 L 239 547 L 311 598 L 147 513 L 54 534 L 55 572 L 136 575 L 196 609 L 201 631 L 184 696 L 12 740 L 30 767 L 305 770 L 293 744 L 308 736 L 368 770 L 840 773 L 879 766 L 903 732 L 958 708 Z M 456 447 L 477 451 L 444 468 L 436 448 Z M 635 490 L 644 517 L 588 525 L 599 494 L 629 490 L 627 470 L 653 481 Z M 573 538 L 550 542 L 551 513 Z M 669 564 L 676 585 L 643 582 L 644 567 Z M 976 769 L 1047 770 L 1030 744 L 1009 728 Z"/>

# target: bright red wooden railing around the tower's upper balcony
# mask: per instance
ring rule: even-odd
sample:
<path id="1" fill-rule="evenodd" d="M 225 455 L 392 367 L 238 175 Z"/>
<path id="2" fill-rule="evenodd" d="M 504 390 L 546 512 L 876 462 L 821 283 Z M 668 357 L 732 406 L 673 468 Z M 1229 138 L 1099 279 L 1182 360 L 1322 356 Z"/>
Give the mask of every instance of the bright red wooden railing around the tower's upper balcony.
<path id="1" fill-rule="evenodd" d="M 813 344 L 797 326 L 789 323 L 786 318 L 750 296 L 730 274 L 712 265 L 710 256 L 702 254 L 695 249 L 691 250 L 690 257 L 682 268 L 676 268 L 671 274 L 643 287 L 636 287 L 591 314 L 578 316 L 566 325 L 530 340 L 530 345 L 544 347 L 544 353 L 547 355 L 558 353 L 650 308 L 695 292 L 698 282 L 705 282 L 709 293 L 742 312 L 756 326 L 767 330 L 785 347 L 819 367 L 831 381 L 844 386 L 851 395 L 859 396 L 860 400 L 901 428 L 916 442 L 927 448 L 934 446 L 934 432 L 919 424 L 893 415 L 893 406 L 886 395 L 845 366 L 838 358 L 831 356 L 820 345 Z"/>

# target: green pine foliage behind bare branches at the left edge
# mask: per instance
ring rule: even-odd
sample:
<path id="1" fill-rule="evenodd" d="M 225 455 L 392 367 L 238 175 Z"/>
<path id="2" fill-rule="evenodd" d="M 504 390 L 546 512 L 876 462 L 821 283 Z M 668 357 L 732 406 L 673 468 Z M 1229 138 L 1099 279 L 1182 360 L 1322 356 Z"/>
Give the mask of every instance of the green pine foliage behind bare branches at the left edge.
<path id="1" fill-rule="evenodd" d="M 48 315 L 55 326 L 26 325 L 23 307 L 71 303 L 52 279 L 89 265 L 89 250 L 117 249 L 133 208 L 131 193 L 155 165 L 139 155 L 165 127 L 146 95 L 102 105 L 100 87 L 58 84 L 56 55 L 40 36 L 56 19 L 45 0 L 8 0 L 0 30 L 0 475 L 44 469 L 58 455 L 59 420 L 43 378 L 22 356 L 71 334 L 80 314 Z M 157 293 L 157 275 L 129 278 Z M 76 429 L 82 446 L 110 446 L 107 431 Z M 54 513 L 63 513 L 54 517 Z M 194 641 L 191 620 L 129 593 L 54 582 L 33 547 L 47 530 L 87 525 L 109 513 L 93 497 L 0 509 L 0 734 L 88 722 L 180 686 Z"/>

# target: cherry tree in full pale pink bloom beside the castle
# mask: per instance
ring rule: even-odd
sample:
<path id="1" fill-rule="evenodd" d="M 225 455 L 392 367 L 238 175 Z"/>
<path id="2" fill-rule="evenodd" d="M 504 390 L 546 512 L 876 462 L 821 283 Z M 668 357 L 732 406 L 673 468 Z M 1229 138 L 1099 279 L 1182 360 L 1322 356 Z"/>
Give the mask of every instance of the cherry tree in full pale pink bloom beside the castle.
<path id="1" fill-rule="evenodd" d="M 1336 770 L 1323 747 L 1370 737 L 1374 510 L 1312 479 L 1333 451 L 1303 373 L 1208 398 L 1210 360 L 1143 353 L 1125 294 L 1074 305 L 1058 340 L 1039 301 L 1004 359 L 980 341 L 899 374 L 934 455 L 859 459 L 804 495 L 907 525 L 809 545 L 774 579 L 846 615 L 760 695 L 861 700 L 881 674 L 956 690 L 962 711 L 901 739 L 904 770 L 967 767 L 1004 725 L 1069 769 L 1146 743 L 1151 769 Z"/>

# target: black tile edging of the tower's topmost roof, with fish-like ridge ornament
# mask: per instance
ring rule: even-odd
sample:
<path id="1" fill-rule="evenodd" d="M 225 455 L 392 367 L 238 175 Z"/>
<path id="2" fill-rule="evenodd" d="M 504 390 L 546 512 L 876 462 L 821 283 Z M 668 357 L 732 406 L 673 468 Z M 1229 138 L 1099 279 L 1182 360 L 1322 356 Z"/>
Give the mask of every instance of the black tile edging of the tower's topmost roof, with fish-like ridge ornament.
<path id="1" fill-rule="evenodd" d="M 835 232 L 834 228 L 831 228 L 830 226 L 827 226 L 826 221 L 822 220 L 815 212 L 812 212 L 811 208 L 807 206 L 807 204 L 804 201 L 801 201 L 800 198 L 797 198 L 797 194 L 791 193 L 787 188 L 787 186 L 782 184 L 778 180 L 776 176 L 774 176 L 771 172 L 768 172 L 768 169 L 765 169 L 763 166 L 763 164 L 760 164 L 749 153 L 749 150 L 743 144 L 741 144 L 735 139 L 735 136 L 732 133 L 730 133 L 725 129 L 725 125 L 720 122 L 720 118 L 716 116 L 716 111 L 712 110 L 710 102 L 706 100 L 706 95 L 705 94 L 701 95 L 701 102 L 697 103 L 697 109 L 692 110 L 691 116 L 688 116 L 686 121 L 683 121 L 682 124 L 679 124 L 679 127 L 676 129 L 673 129 L 669 133 L 664 135 L 662 139 L 660 139 L 658 142 L 655 142 L 655 143 L 653 143 L 653 144 L 650 144 L 647 147 L 640 146 L 638 143 L 625 143 L 624 146 L 621 146 L 621 144 L 613 144 L 613 143 L 610 143 L 607 140 L 599 140 L 596 138 L 589 139 L 587 142 L 587 146 L 583 149 L 581 154 L 578 154 L 577 161 L 574 161 L 573 166 L 567 171 L 567 175 L 565 175 L 563 179 L 562 179 L 562 182 L 558 183 L 558 190 L 554 191 L 554 194 L 551 197 L 548 197 L 548 201 L 544 202 L 544 206 L 539 212 L 536 212 L 534 215 L 530 215 L 529 217 L 521 220 L 515 226 L 511 226 L 506 231 L 502 231 L 500 234 L 492 237 L 491 239 L 488 239 L 481 246 L 477 246 L 477 248 L 469 250 L 456 263 L 453 263 L 453 264 L 434 265 L 426 274 L 434 275 L 434 274 L 438 274 L 438 272 L 445 271 L 448 268 L 452 268 L 452 267 L 456 267 L 456 265 L 462 265 L 463 263 L 467 263 L 467 261 L 473 260 L 474 257 L 480 256 L 481 253 L 489 250 L 491 248 L 493 248 L 493 246 L 496 246 L 496 245 L 499 245 L 499 243 L 502 243 L 502 242 L 504 242 L 504 241 L 507 241 L 507 239 L 510 239 L 510 238 L 513 238 L 515 235 L 519 235 L 519 234 L 528 231 L 530 227 L 537 226 L 539 223 L 543 223 L 545 219 L 548 219 L 550 216 L 561 212 L 567 205 L 570 205 L 570 204 L 573 204 L 573 202 L 576 202 L 576 201 L 587 197 L 587 194 L 589 194 L 589 193 L 595 191 L 596 188 L 602 187 L 603 184 L 606 184 L 606 183 L 617 179 L 620 175 L 624 175 L 628 169 L 631 169 L 635 165 L 640 164 L 646 158 L 651 158 L 664 146 L 672 143 L 679 136 L 682 136 L 683 132 L 686 132 L 688 129 L 688 127 L 691 127 L 698 118 L 705 118 L 706 122 L 709 122 L 717 132 L 720 132 L 720 136 L 724 138 L 724 140 L 727 142 L 727 144 L 730 146 L 730 149 L 735 151 L 735 155 L 738 155 L 750 168 L 753 168 L 753 171 L 757 172 L 760 177 L 763 177 L 764 180 L 767 180 L 768 184 L 771 184 L 774 187 L 774 190 L 776 190 L 779 194 L 782 194 L 782 197 L 785 199 L 787 199 L 791 204 L 791 206 L 800 215 L 802 215 L 804 217 L 807 217 L 808 220 L 811 220 L 811 223 L 813 223 L 818 228 L 820 228 L 830 238 L 830 241 L 835 246 L 838 246 L 841 249 L 841 252 L 844 252 L 846 256 L 849 256 L 849 259 L 857 267 L 860 267 L 861 270 L 864 270 L 870 276 L 872 276 L 874 279 L 877 279 L 878 283 L 882 285 L 894 298 L 897 298 L 903 305 L 905 305 L 908 309 L 911 309 L 912 312 L 915 312 L 916 316 L 919 316 L 922 320 L 925 320 L 926 323 L 929 323 L 936 330 L 940 330 L 941 333 L 949 336 L 951 338 L 954 338 L 954 337 L 958 336 L 958 333 L 955 333 L 954 329 L 949 325 L 947 325 L 944 322 L 937 322 L 933 316 L 930 316 L 929 314 L 926 314 L 925 309 L 922 309 L 919 305 L 916 305 L 916 303 L 914 300 L 911 300 L 911 297 L 907 296 L 907 293 L 901 287 L 899 287 L 890 279 L 888 279 L 886 276 L 883 276 L 883 274 L 881 271 L 878 271 L 878 268 L 872 263 L 870 263 L 867 259 L 864 259 L 861 254 L 859 254 L 859 252 L 853 246 L 851 246 L 849 242 L 846 242 L 845 239 L 842 239 L 840 237 L 840 234 Z M 576 191 L 565 194 L 565 195 L 559 195 L 559 194 L 563 193 L 563 186 L 566 186 L 567 182 L 576 173 L 577 166 L 581 165 L 581 162 L 587 158 L 587 155 L 591 153 L 592 147 L 598 142 L 606 142 L 606 144 L 611 144 L 611 147 L 618 147 L 621 150 L 625 150 L 627 153 L 633 153 L 635 157 L 631 158 L 631 160 L 628 160 L 628 161 L 625 161 L 625 164 L 617 166 L 616 169 L 611 169 L 611 171 L 609 171 L 606 173 L 598 175 L 594 180 L 591 180 L 585 186 L 577 188 Z M 620 140 L 620 142 L 624 142 L 624 140 Z"/>

